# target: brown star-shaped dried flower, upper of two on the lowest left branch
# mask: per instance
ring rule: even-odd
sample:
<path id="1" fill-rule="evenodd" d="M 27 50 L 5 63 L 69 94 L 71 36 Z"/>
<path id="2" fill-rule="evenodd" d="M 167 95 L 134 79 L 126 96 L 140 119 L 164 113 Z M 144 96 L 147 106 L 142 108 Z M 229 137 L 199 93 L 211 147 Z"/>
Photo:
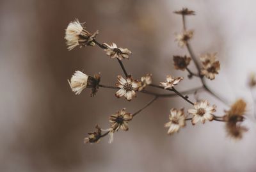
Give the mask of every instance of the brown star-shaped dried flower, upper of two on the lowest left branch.
<path id="1" fill-rule="evenodd" d="M 128 122 L 132 120 L 132 114 L 126 113 L 125 108 L 123 108 L 121 111 L 116 112 L 115 114 L 111 114 L 109 117 L 109 121 L 111 122 L 111 129 L 114 131 L 117 131 L 119 128 L 122 130 L 127 131 L 128 128 Z"/>

